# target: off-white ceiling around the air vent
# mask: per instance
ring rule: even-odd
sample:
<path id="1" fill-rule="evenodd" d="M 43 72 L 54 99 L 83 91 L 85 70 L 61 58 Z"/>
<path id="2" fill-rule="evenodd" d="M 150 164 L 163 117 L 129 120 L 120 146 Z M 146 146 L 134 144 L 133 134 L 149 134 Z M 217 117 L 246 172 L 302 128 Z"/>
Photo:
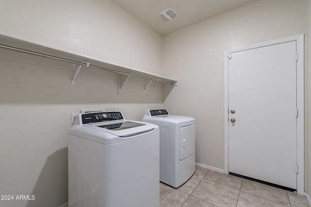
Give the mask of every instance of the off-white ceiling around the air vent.
<path id="1" fill-rule="evenodd" d="M 112 0 L 124 10 L 166 35 L 190 24 L 225 13 L 255 0 Z M 158 14 L 173 9 L 177 16 L 164 21 Z"/>

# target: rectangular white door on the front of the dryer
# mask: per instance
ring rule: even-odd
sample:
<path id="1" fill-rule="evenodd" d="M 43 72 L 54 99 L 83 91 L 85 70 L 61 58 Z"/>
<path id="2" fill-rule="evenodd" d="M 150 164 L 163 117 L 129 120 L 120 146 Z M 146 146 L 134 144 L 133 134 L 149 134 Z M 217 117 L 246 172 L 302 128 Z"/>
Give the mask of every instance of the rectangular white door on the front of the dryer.
<path id="1" fill-rule="evenodd" d="M 195 124 L 180 128 L 180 160 L 195 152 Z"/>

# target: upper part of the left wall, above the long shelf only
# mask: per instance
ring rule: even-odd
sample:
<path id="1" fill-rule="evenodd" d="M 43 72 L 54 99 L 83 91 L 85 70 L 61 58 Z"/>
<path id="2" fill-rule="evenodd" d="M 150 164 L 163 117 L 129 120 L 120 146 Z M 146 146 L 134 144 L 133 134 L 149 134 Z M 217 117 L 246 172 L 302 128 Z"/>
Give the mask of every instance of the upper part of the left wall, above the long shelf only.
<path id="1" fill-rule="evenodd" d="M 162 38 L 110 0 L 0 0 L 0 32 L 151 73 Z"/>

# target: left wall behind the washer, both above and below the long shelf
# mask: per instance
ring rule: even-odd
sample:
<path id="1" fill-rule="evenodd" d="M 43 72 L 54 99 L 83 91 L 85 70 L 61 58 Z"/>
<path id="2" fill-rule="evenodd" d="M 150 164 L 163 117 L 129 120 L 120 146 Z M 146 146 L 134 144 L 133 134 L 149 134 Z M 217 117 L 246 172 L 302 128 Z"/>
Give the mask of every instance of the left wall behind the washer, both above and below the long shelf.
<path id="1" fill-rule="evenodd" d="M 110 0 L 0 0 L 0 32 L 161 75 L 162 37 Z M 141 120 L 161 108 L 162 87 L 130 78 L 118 95 L 119 75 L 0 49 L 0 195 L 34 201 L 0 206 L 58 207 L 68 202 L 71 113 L 121 110 Z"/>

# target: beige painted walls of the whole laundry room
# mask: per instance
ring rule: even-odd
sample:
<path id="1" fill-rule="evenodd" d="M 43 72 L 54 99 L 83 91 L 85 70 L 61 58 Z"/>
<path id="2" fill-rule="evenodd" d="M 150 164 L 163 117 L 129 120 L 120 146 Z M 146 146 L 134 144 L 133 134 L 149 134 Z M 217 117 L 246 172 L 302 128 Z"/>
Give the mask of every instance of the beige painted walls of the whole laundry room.
<path id="1" fill-rule="evenodd" d="M 163 104 L 162 87 L 144 93 L 143 80 L 131 78 L 117 95 L 116 74 L 83 67 L 71 85 L 71 64 L 0 49 L 0 194 L 35 195 L 35 201 L 0 206 L 67 202 L 67 132 L 71 112 L 82 108 L 121 110 L 139 120 L 145 108 L 164 105 L 193 116 L 196 161 L 224 169 L 224 50 L 300 33 L 306 33 L 305 184 L 311 194 L 311 0 L 258 0 L 163 38 L 110 0 L 0 4 L 0 32 L 178 80 Z"/>

